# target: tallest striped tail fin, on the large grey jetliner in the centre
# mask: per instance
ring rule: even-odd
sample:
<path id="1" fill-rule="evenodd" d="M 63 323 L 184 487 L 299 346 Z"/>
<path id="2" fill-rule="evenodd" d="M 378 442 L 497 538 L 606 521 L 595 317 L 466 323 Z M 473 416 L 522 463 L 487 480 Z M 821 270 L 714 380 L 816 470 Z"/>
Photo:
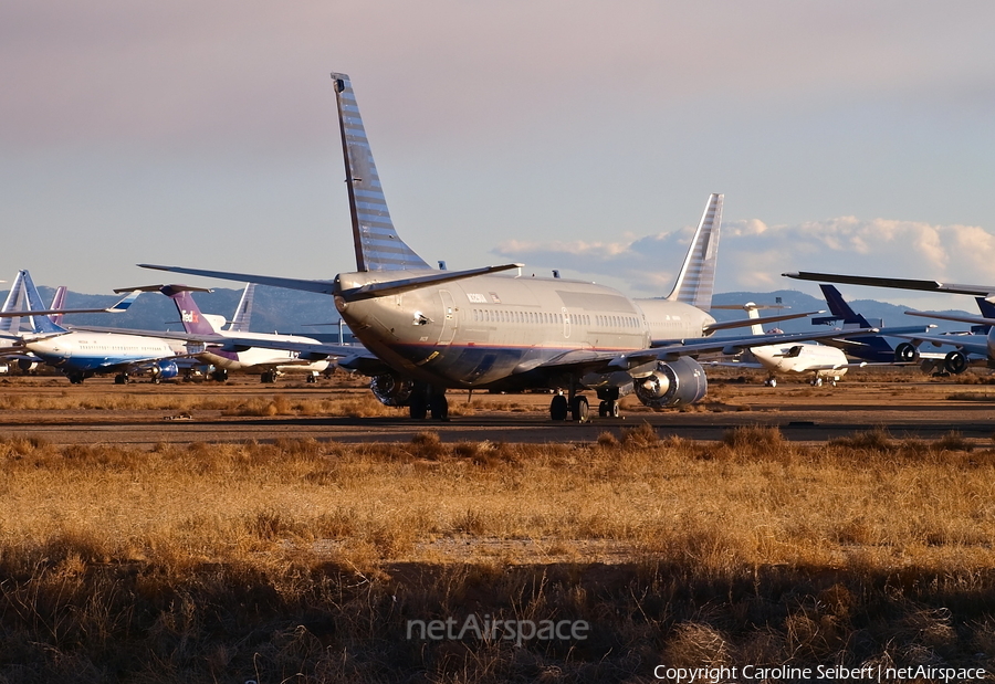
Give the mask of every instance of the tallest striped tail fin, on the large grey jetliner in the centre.
<path id="1" fill-rule="evenodd" d="M 345 159 L 357 271 L 429 269 L 397 234 L 377 176 L 359 106 L 346 74 L 332 74 Z"/>

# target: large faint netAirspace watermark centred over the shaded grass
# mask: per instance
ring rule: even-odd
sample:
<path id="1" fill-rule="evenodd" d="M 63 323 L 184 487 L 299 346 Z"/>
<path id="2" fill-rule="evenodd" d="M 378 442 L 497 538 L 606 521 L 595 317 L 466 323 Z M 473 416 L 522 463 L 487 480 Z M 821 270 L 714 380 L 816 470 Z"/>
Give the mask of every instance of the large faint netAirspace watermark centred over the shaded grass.
<path id="1" fill-rule="evenodd" d="M 462 622 L 446 620 L 408 620 L 408 639 L 421 641 L 511 641 L 521 646 L 533 639 L 538 641 L 584 641 L 590 624 L 586 620 L 501 620 L 485 614 L 483 620 L 470 613 Z"/>

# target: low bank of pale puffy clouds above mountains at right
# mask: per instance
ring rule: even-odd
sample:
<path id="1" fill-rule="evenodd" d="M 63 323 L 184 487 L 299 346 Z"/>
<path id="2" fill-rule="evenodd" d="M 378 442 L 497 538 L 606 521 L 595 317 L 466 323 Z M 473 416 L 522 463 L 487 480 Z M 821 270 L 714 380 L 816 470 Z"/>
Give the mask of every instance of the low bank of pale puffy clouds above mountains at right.
<path id="1" fill-rule="evenodd" d="M 569 269 L 585 277 L 624 277 L 631 290 L 666 294 L 693 230 L 617 242 L 522 242 L 493 252 L 528 267 Z M 758 219 L 723 222 L 718 291 L 784 287 L 789 271 L 891 275 L 987 283 L 995 235 L 977 225 L 934 225 L 891 219 L 840 217 L 794 225 Z"/>

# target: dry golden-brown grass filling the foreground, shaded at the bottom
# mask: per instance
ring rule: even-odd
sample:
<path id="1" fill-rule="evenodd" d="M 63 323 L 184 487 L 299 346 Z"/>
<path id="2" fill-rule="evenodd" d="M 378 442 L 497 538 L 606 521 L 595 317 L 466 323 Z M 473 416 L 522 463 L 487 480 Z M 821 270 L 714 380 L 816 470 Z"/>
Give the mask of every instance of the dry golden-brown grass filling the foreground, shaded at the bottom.
<path id="1" fill-rule="evenodd" d="M 995 451 L 956 434 L 799 446 L 769 428 L 692 442 L 637 424 L 577 445 L 423 432 L 151 452 L 4 439 L 0 469 L 0 681 L 995 664 Z M 404 638 L 408 619 L 473 611 L 585 619 L 591 639 Z"/>

